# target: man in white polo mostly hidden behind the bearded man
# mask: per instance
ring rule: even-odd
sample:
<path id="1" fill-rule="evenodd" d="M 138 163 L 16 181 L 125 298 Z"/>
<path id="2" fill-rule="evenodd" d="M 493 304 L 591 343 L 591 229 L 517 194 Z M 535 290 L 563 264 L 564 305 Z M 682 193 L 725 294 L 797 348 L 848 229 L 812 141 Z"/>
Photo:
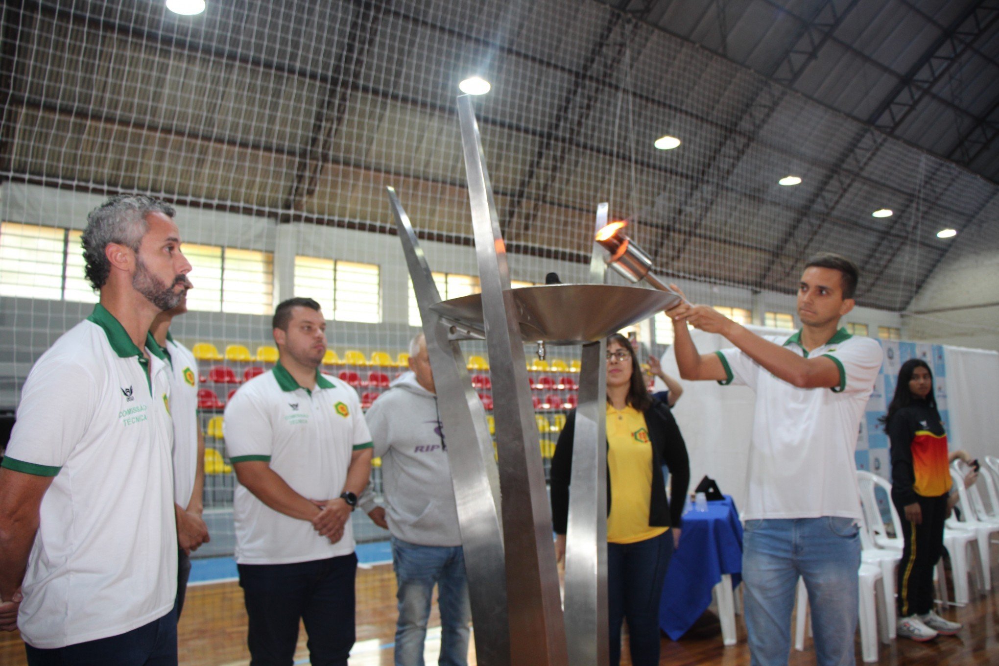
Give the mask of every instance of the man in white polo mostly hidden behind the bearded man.
<path id="1" fill-rule="evenodd" d="M 191 283 L 187 284 L 191 289 Z M 198 361 L 174 339 L 170 325 L 187 312 L 187 291 L 181 302 L 160 313 L 149 330 L 149 349 L 170 365 L 170 413 L 174 421 L 174 513 L 177 516 L 177 620 L 184 610 L 191 553 L 209 541 L 202 518 L 205 487 L 205 435 L 198 422 Z"/>

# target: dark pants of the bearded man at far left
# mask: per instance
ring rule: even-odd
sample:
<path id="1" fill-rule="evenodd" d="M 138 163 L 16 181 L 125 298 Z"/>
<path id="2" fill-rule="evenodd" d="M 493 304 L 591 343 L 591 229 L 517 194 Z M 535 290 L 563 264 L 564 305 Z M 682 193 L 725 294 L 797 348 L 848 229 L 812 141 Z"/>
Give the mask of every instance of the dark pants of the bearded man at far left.
<path id="1" fill-rule="evenodd" d="M 66 647 L 24 647 L 28 666 L 177 666 L 177 617 L 171 610 L 124 634 Z"/>

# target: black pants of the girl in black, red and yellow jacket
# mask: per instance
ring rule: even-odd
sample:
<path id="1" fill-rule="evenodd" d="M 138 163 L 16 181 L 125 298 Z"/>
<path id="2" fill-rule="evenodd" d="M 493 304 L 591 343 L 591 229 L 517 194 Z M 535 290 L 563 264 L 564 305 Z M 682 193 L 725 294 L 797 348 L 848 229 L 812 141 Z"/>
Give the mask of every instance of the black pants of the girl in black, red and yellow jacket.
<path id="1" fill-rule="evenodd" d="M 943 552 L 943 521 L 947 495 L 918 498 L 923 519 L 918 525 L 905 519 L 905 506 L 892 497 L 902 519 L 905 547 L 898 563 L 898 616 L 923 615 L 933 608 L 933 567 Z"/>

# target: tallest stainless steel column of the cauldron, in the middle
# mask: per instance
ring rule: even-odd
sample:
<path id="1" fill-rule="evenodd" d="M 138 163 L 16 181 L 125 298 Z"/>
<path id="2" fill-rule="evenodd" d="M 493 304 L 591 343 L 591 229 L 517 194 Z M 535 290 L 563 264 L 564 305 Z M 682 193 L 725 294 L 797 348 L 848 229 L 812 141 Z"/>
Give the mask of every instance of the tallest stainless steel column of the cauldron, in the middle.
<path id="1" fill-rule="evenodd" d="M 497 445 L 500 453 L 502 528 L 510 663 L 567 664 L 565 628 L 551 541 L 537 426 L 527 383 L 516 303 L 509 291 L 506 250 L 483 155 L 472 99 L 458 99 L 469 180 L 476 254 L 490 351 Z"/>

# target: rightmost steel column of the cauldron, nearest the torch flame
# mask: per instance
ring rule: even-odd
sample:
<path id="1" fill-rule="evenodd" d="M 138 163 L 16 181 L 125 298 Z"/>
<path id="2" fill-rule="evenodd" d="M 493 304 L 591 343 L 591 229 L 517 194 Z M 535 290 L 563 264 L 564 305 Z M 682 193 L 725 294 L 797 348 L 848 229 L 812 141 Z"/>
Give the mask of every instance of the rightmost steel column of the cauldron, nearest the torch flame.
<path id="1" fill-rule="evenodd" d="M 607 224 L 596 208 L 596 229 Z M 589 281 L 603 284 L 603 251 L 593 245 Z M 582 345 L 565 531 L 565 635 L 572 666 L 605 666 L 607 638 L 606 340 Z"/>

